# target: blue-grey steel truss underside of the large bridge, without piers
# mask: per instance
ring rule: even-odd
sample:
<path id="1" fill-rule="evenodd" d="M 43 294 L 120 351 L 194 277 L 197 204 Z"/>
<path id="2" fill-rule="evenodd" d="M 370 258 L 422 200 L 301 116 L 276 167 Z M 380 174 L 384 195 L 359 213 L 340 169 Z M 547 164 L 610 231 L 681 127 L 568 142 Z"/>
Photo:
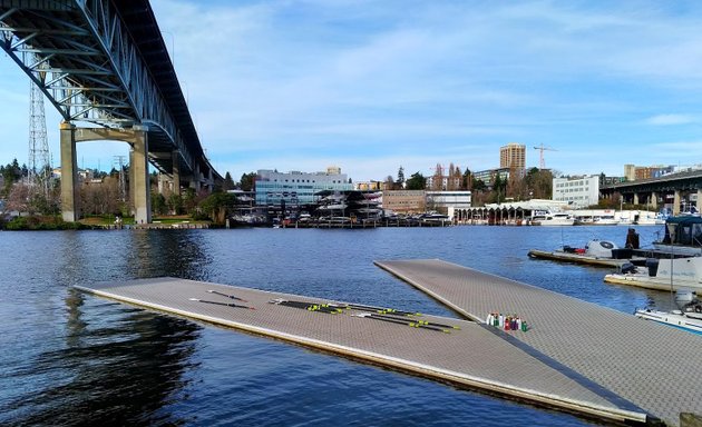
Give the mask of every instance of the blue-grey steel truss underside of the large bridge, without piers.
<path id="1" fill-rule="evenodd" d="M 153 68 L 111 2 L 0 0 L 0 47 L 65 121 L 147 126 L 150 161 L 164 172 L 172 169 L 173 158 L 158 152 L 177 150 L 178 167 L 191 173 L 194 157 L 204 157 L 198 141 L 195 149 L 184 141 Z"/>

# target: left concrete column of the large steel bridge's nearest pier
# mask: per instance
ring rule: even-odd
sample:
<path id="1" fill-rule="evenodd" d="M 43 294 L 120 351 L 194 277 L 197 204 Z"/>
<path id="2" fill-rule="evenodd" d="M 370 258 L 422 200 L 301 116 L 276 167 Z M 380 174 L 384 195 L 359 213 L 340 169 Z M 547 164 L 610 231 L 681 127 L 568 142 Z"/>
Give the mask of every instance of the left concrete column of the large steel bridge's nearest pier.
<path id="1" fill-rule="evenodd" d="M 75 222 L 80 218 L 76 127 L 64 121 L 59 125 L 59 132 L 61 140 L 61 216 L 65 221 Z"/>

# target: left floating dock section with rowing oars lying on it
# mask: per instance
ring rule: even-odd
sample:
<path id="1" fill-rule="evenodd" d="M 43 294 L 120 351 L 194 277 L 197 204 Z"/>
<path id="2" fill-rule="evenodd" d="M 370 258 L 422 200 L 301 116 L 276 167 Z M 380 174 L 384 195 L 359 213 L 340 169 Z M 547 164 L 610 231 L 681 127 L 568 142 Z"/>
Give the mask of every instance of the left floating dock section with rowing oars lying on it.
<path id="1" fill-rule="evenodd" d="M 421 282 L 423 279 L 415 277 L 408 269 L 422 266 L 422 262 L 391 262 L 383 268 L 398 268 L 398 272 L 406 271 Z M 435 271 L 432 278 L 438 281 L 447 278 L 446 268 L 451 267 L 436 261 L 430 261 L 427 266 L 430 271 Z M 465 274 L 458 269 L 452 271 L 461 276 Z M 458 276 L 454 278 L 458 279 Z M 490 277 L 490 281 L 499 279 Z M 514 339 L 520 336 L 519 339 L 524 340 L 535 338 L 548 342 L 549 339 L 540 330 L 538 321 L 534 331 L 507 334 L 470 320 L 408 316 L 412 321 L 421 319 L 430 325 L 459 328 L 440 328 L 447 330 L 441 331 L 357 316 L 373 310 L 344 309 L 341 314 L 332 315 L 270 301 L 284 299 L 310 305 L 343 302 L 176 278 L 96 284 L 76 288 L 121 302 L 313 347 L 585 417 L 642 424 L 652 419 L 645 409 L 613 395 L 595 383 L 583 380 L 575 373 L 563 369 L 548 357 Z M 231 299 L 209 292 L 211 290 L 246 301 Z M 490 307 L 489 309 L 500 309 L 499 301 L 510 300 L 503 298 L 504 295 L 499 295 L 499 298 L 495 296 L 494 294 L 489 300 L 486 295 L 481 305 Z M 195 301 L 192 298 L 217 304 Z M 505 309 L 515 308 L 509 304 L 505 306 Z M 524 312 L 527 314 L 528 310 Z M 536 320 L 536 316 L 534 319 Z"/>

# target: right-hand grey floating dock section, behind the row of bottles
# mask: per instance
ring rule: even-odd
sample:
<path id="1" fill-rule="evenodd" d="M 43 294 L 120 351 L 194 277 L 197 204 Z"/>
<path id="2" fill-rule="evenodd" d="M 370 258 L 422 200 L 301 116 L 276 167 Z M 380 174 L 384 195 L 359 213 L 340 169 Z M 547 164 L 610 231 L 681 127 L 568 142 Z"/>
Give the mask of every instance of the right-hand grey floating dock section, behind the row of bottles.
<path id="1" fill-rule="evenodd" d="M 702 414 L 699 336 L 440 260 L 376 265 L 466 318 L 517 314 L 530 329 L 506 332 L 511 340 L 578 383 L 602 387 L 614 401 L 667 425 L 677 425 L 681 413 Z"/>

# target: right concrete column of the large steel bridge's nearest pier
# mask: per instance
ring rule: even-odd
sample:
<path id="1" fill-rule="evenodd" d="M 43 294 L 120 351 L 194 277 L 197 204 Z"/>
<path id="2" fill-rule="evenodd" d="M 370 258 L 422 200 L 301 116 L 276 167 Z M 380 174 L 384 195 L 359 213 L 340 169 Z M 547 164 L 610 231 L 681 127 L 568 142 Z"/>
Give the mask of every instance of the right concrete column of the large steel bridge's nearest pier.
<path id="1" fill-rule="evenodd" d="M 148 133 L 145 127 L 134 126 L 134 146 L 129 152 L 134 220 L 136 224 L 152 222 L 152 191 L 148 179 Z"/>

